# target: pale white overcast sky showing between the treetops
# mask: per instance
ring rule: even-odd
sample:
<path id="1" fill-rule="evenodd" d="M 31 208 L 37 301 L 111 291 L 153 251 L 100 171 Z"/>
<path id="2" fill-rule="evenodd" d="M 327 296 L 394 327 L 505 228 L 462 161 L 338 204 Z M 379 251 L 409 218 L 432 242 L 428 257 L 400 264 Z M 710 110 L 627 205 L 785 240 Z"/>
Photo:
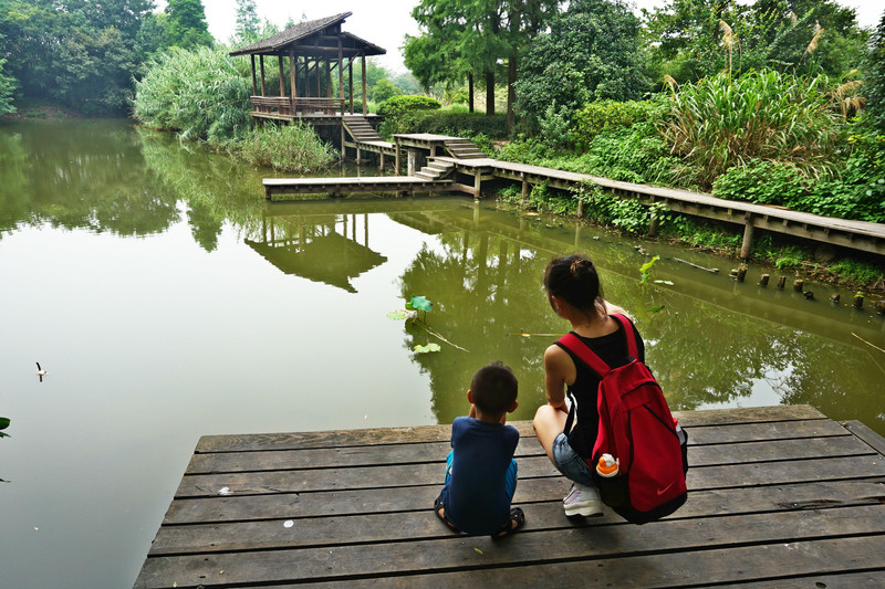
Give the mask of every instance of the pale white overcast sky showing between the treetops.
<path id="1" fill-rule="evenodd" d="M 256 0 L 258 15 L 274 24 L 283 25 L 291 17 L 301 21 L 322 19 L 341 12 L 353 12 L 344 23 L 344 30 L 387 50 L 387 55 L 377 57 L 378 65 L 395 72 L 405 70 L 399 48 L 406 34 L 417 35 L 418 25 L 412 19 L 412 9 L 418 0 L 324 0 L 303 2 L 299 0 Z M 664 4 L 664 0 L 634 0 L 636 8 L 652 9 Z M 874 28 L 882 17 L 885 4 L 882 0 L 839 0 L 839 3 L 857 10 L 861 27 Z M 165 2 L 157 2 L 159 8 Z M 209 32 L 219 41 L 227 41 L 237 24 L 236 0 L 204 0 Z"/>

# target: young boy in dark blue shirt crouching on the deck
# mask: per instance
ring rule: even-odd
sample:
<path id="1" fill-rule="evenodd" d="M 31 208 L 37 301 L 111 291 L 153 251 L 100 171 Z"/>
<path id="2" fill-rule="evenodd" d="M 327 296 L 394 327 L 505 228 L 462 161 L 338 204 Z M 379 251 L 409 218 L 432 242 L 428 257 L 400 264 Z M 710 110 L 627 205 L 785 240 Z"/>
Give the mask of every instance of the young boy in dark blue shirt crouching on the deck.
<path id="1" fill-rule="evenodd" d="M 517 377 L 500 361 L 480 368 L 467 391 L 470 413 L 451 424 L 446 483 L 434 511 L 455 532 L 499 538 L 525 522 L 522 509 L 510 508 L 519 432 L 506 425 L 506 417 L 519 404 L 517 386 Z"/>

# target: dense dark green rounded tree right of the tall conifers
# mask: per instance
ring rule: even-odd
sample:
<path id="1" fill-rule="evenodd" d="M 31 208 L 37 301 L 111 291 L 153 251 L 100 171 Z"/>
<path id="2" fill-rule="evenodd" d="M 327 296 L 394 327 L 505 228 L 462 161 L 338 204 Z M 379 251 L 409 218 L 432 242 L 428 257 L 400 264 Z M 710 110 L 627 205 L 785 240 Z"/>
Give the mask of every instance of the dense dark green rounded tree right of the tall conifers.
<path id="1" fill-rule="evenodd" d="M 568 125 L 586 103 L 638 99 L 650 87 L 644 65 L 639 19 L 625 2 L 574 0 L 529 48 L 516 84 L 520 112 Z"/>

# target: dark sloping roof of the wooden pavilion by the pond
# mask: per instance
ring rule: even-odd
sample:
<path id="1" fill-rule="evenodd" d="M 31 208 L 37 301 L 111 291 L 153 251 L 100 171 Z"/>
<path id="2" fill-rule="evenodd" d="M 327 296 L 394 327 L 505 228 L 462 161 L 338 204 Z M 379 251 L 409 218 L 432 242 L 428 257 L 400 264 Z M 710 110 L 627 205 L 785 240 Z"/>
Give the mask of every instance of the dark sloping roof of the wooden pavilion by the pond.
<path id="1" fill-rule="evenodd" d="M 337 53 L 339 38 L 342 40 L 345 56 L 387 53 L 385 49 L 341 30 L 341 23 L 352 14 L 353 12 L 342 12 L 324 19 L 299 22 L 251 45 L 231 51 L 230 55 L 278 55 L 285 53 L 290 48 L 294 48 L 302 54 L 329 55 L 331 52 Z"/>

